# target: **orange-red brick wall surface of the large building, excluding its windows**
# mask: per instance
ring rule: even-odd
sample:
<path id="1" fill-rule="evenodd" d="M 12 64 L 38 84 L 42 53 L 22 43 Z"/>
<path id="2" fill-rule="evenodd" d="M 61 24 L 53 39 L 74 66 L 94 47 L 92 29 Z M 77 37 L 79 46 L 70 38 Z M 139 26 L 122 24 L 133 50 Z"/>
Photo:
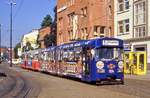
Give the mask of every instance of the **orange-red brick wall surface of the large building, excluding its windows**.
<path id="1" fill-rule="evenodd" d="M 81 29 L 87 28 L 89 34 L 88 39 L 94 37 L 94 26 L 111 27 L 111 32 L 108 34 L 106 31 L 105 36 L 113 37 L 114 20 L 113 8 L 114 0 L 75 0 L 74 5 L 68 7 L 67 1 L 57 0 L 57 9 L 62 8 L 64 5 L 67 9 L 57 13 L 57 44 L 70 42 L 68 31 L 72 30 L 68 23 L 68 14 L 75 12 L 81 14 L 81 8 L 87 7 L 87 17 L 78 15 L 78 36 L 81 38 Z M 110 1 L 110 2 L 108 2 Z M 111 8 L 111 16 L 109 16 L 109 9 Z M 81 38 L 82 39 L 82 38 Z"/>

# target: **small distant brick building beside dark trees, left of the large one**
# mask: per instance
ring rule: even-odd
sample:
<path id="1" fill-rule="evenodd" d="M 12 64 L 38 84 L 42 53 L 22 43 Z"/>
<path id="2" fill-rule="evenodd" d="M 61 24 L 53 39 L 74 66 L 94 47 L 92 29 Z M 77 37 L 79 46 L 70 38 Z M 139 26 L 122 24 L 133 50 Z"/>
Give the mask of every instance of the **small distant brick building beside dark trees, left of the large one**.
<path id="1" fill-rule="evenodd" d="M 40 44 L 40 48 L 45 48 L 44 37 L 45 37 L 45 35 L 50 34 L 50 32 L 51 32 L 51 28 L 50 27 L 41 28 L 39 30 L 38 41 L 39 41 L 39 44 Z"/>

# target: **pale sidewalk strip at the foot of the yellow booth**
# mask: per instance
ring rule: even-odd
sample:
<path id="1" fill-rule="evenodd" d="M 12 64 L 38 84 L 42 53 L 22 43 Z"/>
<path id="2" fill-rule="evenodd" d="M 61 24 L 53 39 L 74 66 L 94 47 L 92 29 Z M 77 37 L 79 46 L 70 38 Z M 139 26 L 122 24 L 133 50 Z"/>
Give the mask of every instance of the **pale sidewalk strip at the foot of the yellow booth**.
<path id="1" fill-rule="evenodd" d="M 150 70 L 147 71 L 146 75 L 125 74 L 125 79 L 137 79 L 137 80 L 148 80 L 148 81 L 150 81 Z"/>

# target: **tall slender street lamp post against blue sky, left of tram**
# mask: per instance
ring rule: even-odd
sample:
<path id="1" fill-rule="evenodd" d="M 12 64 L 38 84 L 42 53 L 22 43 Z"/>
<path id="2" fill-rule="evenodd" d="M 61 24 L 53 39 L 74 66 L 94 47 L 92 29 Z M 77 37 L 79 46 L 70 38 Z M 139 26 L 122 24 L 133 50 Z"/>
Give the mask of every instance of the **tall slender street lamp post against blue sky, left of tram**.
<path id="1" fill-rule="evenodd" d="M 12 25 L 12 20 L 13 20 L 13 18 L 12 18 L 12 13 L 13 13 L 13 11 L 12 11 L 12 7 L 13 7 L 13 5 L 16 5 L 16 3 L 14 3 L 13 1 L 11 1 L 10 2 L 10 67 L 12 67 L 12 33 L 13 33 L 13 30 L 12 30 L 12 28 L 13 28 L 13 25 Z"/>

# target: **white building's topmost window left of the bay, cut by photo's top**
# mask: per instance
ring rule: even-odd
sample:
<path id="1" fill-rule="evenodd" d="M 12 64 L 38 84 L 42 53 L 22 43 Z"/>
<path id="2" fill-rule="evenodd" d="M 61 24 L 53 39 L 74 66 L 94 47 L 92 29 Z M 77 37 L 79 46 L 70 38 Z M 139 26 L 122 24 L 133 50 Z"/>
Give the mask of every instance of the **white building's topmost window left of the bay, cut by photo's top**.
<path id="1" fill-rule="evenodd" d="M 118 11 L 126 11 L 129 9 L 129 0 L 118 0 Z"/>

